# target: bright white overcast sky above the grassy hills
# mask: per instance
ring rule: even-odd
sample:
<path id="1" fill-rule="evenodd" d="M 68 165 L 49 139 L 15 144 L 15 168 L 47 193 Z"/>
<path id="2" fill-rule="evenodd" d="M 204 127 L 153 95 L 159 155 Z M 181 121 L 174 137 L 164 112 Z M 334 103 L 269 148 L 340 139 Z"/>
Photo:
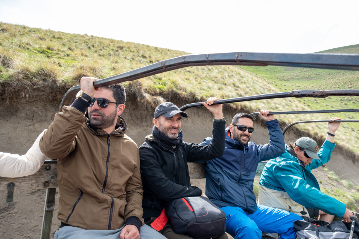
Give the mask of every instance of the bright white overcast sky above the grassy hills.
<path id="1" fill-rule="evenodd" d="M 0 21 L 194 54 L 359 44 L 358 0 L 0 0 Z"/>

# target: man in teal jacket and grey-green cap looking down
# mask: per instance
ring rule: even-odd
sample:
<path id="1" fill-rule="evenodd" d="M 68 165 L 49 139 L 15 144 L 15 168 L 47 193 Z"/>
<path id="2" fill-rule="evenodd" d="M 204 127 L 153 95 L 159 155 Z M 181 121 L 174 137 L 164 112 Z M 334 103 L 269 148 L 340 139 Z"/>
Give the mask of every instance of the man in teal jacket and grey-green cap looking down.
<path id="1" fill-rule="evenodd" d="M 339 118 L 333 117 L 335 121 Z M 340 119 L 339 119 L 340 120 Z M 286 145 L 286 152 L 271 159 L 265 166 L 259 187 L 258 202 L 261 205 L 306 216 L 319 215 L 320 220 L 331 222 L 333 215 L 350 222 L 353 213 L 346 205 L 320 191 L 319 184 L 311 169 L 322 166 L 330 160 L 335 147 L 334 136 L 340 122 L 329 122 L 326 141 L 318 150 L 317 143 L 308 137 Z M 309 211 L 309 212 L 308 212 Z"/>

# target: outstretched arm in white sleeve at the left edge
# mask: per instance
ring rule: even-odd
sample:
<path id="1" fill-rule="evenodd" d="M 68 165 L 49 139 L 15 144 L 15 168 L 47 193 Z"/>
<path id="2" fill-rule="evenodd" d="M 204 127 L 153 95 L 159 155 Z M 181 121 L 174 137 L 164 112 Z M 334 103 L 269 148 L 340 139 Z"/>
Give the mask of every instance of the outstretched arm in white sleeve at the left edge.
<path id="1" fill-rule="evenodd" d="M 40 139 L 46 129 L 37 137 L 35 143 L 24 155 L 0 152 L 0 176 L 16 178 L 37 172 L 46 160 L 40 150 Z"/>

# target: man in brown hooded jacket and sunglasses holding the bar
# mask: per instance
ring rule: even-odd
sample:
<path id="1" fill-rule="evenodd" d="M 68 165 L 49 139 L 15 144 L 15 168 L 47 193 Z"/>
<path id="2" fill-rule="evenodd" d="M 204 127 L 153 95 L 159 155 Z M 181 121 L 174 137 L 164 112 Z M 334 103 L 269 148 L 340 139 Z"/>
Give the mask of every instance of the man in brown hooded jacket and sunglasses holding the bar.
<path id="1" fill-rule="evenodd" d="M 125 89 L 95 89 L 95 80 L 81 78 L 77 99 L 62 107 L 40 141 L 41 151 L 57 159 L 61 226 L 54 239 L 163 238 L 143 225 L 139 152 L 120 117 Z"/>

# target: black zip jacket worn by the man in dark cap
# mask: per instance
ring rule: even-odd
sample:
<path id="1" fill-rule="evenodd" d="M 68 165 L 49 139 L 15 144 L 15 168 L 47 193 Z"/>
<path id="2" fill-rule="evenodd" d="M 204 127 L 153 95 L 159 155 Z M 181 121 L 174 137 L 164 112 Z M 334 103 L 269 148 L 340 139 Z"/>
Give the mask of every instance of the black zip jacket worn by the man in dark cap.
<path id="1" fill-rule="evenodd" d="M 225 121 L 213 121 L 210 145 L 185 143 L 174 153 L 159 148 L 152 134 L 140 148 L 140 168 L 143 182 L 143 218 L 158 217 L 167 201 L 200 196 L 202 190 L 192 187 L 187 162 L 207 161 L 222 156 L 225 145 Z"/>

